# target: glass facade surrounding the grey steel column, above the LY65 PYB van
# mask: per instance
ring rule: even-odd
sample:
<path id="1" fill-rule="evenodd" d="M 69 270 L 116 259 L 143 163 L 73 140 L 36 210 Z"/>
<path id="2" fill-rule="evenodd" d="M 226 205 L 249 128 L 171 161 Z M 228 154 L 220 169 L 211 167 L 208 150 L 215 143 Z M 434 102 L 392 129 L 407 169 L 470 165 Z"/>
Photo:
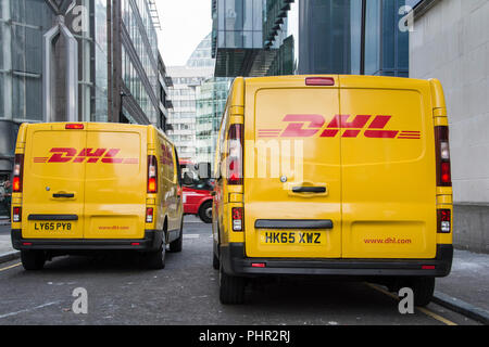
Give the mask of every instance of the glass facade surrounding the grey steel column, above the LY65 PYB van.
<path id="1" fill-rule="evenodd" d="M 153 0 L 76 0 L 65 14 L 78 43 L 79 120 L 164 123 L 152 5 Z M 108 26 L 109 18 L 115 25 Z M 45 0 L 0 0 L 0 119 L 43 120 L 42 39 L 54 20 Z M 62 99 L 65 43 L 54 44 L 54 88 Z M 64 107 L 55 106 L 54 120 L 64 120 Z"/>

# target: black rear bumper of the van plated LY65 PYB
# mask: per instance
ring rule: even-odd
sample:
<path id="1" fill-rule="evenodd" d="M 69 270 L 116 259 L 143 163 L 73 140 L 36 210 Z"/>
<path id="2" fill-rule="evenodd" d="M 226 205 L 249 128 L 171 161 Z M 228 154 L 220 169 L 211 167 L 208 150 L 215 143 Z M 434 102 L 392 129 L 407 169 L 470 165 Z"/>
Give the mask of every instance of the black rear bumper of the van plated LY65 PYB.
<path id="1" fill-rule="evenodd" d="M 145 239 L 137 240 L 72 240 L 72 239 L 22 239 L 22 230 L 12 229 L 12 245 L 17 250 L 158 250 L 163 231 L 147 230 Z"/>

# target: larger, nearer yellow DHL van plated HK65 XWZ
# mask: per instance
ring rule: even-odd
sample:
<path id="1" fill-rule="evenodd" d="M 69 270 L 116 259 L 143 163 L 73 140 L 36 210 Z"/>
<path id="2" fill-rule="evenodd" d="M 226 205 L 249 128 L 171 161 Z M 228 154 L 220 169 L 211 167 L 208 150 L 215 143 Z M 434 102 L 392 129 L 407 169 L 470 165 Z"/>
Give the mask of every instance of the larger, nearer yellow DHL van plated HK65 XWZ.
<path id="1" fill-rule="evenodd" d="M 438 80 L 238 78 L 217 142 L 221 301 L 246 278 L 371 277 L 427 305 L 451 270 L 452 183 Z"/>

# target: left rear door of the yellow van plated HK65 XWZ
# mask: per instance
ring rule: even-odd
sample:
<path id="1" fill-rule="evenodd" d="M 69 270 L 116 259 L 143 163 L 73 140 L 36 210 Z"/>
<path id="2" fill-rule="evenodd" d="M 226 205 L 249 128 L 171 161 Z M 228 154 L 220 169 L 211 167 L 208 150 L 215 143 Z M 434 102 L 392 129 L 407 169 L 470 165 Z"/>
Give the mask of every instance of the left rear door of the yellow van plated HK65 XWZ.
<path id="1" fill-rule="evenodd" d="M 300 76 L 247 81 L 249 257 L 341 256 L 340 139 L 322 132 L 339 110 L 338 83 L 333 82 L 306 86 Z"/>

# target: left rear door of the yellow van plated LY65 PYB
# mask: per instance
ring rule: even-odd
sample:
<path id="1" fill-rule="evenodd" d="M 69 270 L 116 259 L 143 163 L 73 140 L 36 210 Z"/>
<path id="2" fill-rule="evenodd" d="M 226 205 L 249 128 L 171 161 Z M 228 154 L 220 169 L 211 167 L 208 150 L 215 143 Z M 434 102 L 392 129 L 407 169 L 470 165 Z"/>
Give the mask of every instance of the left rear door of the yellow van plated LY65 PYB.
<path id="1" fill-rule="evenodd" d="M 74 163 L 86 146 L 83 129 L 64 124 L 27 127 L 24 239 L 83 239 L 85 163 Z M 27 218 L 27 220 L 26 220 Z"/>

